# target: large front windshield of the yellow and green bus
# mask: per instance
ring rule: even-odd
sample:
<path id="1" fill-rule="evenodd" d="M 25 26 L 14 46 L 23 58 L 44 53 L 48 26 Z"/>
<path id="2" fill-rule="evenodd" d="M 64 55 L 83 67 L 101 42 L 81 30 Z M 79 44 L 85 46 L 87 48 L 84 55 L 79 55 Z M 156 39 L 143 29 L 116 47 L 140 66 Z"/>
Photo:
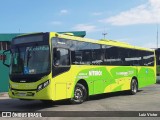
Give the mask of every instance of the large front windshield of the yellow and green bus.
<path id="1" fill-rule="evenodd" d="M 16 46 L 12 49 L 11 75 L 42 74 L 49 70 L 49 45 Z"/>

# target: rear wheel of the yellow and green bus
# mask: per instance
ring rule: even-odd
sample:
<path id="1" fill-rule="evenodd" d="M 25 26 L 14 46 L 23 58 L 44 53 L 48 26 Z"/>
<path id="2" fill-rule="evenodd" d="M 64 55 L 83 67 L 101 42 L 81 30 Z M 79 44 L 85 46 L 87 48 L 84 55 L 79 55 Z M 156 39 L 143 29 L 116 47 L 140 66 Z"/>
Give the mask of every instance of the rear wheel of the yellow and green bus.
<path id="1" fill-rule="evenodd" d="M 131 81 L 131 89 L 130 89 L 130 94 L 135 95 L 138 91 L 138 83 L 136 79 L 132 79 Z"/>

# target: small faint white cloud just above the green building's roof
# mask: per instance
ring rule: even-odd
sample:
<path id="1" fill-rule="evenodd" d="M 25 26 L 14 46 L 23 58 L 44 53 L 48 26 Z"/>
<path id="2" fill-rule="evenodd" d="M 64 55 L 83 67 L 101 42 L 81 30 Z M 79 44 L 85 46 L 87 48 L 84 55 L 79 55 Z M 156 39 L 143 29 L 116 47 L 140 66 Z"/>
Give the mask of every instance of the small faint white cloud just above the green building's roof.
<path id="1" fill-rule="evenodd" d="M 89 24 L 77 24 L 73 27 L 73 30 L 77 31 L 87 31 L 87 32 L 96 32 L 98 31 L 97 27 Z"/>

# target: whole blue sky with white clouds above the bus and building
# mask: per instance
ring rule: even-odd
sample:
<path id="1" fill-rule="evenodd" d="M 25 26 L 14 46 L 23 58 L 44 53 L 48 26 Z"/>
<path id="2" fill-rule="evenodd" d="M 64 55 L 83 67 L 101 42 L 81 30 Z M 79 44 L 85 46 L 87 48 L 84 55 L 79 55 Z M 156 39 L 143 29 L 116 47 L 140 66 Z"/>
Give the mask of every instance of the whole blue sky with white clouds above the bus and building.
<path id="1" fill-rule="evenodd" d="M 85 30 L 148 48 L 160 32 L 160 0 L 3 0 L 0 16 L 0 33 Z"/>

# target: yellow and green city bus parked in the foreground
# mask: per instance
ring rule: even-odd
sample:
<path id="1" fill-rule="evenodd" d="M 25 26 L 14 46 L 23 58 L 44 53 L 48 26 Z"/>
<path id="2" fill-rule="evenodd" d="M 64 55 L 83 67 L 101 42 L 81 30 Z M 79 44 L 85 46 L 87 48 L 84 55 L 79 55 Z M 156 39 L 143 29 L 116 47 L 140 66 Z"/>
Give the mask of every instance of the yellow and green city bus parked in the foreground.
<path id="1" fill-rule="evenodd" d="M 9 96 L 24 100 L 83 103 L 90 95 L 129 91 L 156 83 L 152 49 L 70 33 L 24 34 L 13 38 Z"/>

